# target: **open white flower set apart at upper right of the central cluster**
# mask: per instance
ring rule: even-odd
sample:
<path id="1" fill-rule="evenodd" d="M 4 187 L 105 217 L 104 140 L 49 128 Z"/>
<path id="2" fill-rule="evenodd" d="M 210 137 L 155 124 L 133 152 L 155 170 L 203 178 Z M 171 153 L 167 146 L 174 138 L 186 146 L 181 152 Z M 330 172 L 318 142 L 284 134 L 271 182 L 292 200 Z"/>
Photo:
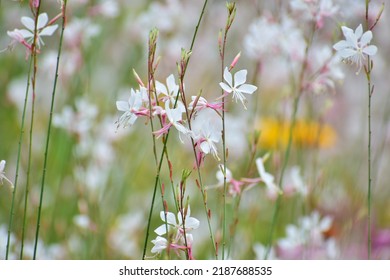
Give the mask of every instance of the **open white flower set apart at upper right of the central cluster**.
<path id="1" fill-rule="evenodd" d="M 233 93 L 233 98 L 236 100 L 240 100 L 242 105 L 245 106 L 246 98 L 243 93 L 246 94 L 252 94 L 257 90 L 257 87 L 254 85 L 245 84 L 246 82 L 246 75 L 247 70 L 240 70 L 237 73 L 234 74 L 234 83 L 232 79 L 232 74 L 229 72 L 228 68 L 226 67 L 223 72 L 223 78 L 227 82 L 226 83 L 219 83 L 221 88 L 226 91 L 227 93 Z"/>

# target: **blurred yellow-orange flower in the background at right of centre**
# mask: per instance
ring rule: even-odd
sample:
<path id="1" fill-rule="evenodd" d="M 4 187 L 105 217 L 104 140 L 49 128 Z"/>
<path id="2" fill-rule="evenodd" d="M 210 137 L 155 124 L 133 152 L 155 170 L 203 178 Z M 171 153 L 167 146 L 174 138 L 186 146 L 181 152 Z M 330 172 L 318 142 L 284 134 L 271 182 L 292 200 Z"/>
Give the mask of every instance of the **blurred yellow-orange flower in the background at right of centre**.
<path id="1" fill-rule="evenodd" d="M 275 118 L 260 120 L 261 131 L 259 145 L 264 149 L 286 148 L 291 122 Z M 330 148 L 336 142 L 335 130 L 326 123 L 308 120 L 296 120 L 292 136 L 292 145 L 304 148 Z"/>

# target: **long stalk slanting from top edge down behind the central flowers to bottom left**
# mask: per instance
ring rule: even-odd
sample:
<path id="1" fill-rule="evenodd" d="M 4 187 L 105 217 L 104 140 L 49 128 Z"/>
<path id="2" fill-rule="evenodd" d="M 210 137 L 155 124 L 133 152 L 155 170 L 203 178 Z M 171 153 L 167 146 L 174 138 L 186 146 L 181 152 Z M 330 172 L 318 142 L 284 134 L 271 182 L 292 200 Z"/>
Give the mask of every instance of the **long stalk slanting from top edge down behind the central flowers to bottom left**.
<path id="1" fill-rule="evenodd" d="M 194 35 L 193 35 L 192 41 L 191 41 L 191 47 L 190 47 L 190 50 L 191 50 L 191 51 L 192 51 L 193 46 L 194 46 L 194 44 L 195 44 L 195 39 L 196 39 L 197 34 L 198 34 L 198 29 L 199 29 L 200 23 L 201 23 L 201 21 L 202 21 L 203 14 L 204 14 L 204 12 L 205 12 L 207 2 L 208 2 L 208 0 L 205 0 L 205 2 L 204 2 L 204 4 L 203 4 L 202 11 L 201 11 L 200 16 L 199 16 L 198 23 L 197 23 L 197 25 L 196 25 L 196 27 L 195 27 L 195 32 L 194 32 Z M 188 61 L 189 61 L 189 59 L 188 59 Z M 188 64 L 188 61 L 187 61 L 187 64 Z M 184 69 L 183 75 L 185 74 L 186 69 L 187 69 L 187 68 Z M 177 97 L 178 97 L 178 96 L 177 96 Z M 177 100 L 177 99 L 176 99 L 176 100 Z M 159 160 L 158 167 L 157 167 L 156 179 L 155 179 L 154 188 L 153 188 L 152 202 L 151 202 L 151 205 L 150 205 L 149 216 L 148 216 L 148 222 L 147 222 L 147 228 L 146 228 L 146 234 L 145 234 L 144 248 L 143 248 L 143 253 L 142 253 L 142 259 L 143 259 L 143 260 L 144 260 L 145 257 L 146 257 L 146 248 L 147 248 L 148 241 L 149 241 L 149 231 L 150 231 L 150 226 L 151 226 L 151 220 L 152 220 L 154 202 L 155 202 L 155 199 L 156 199 L 157 185 L 158 185 L 158 182 L 159 182 L 159 180 L 160 180 L 160 171 L 161 171 L 162 162 L 163 162 L 163 159 L 164 159 L 164 153 L 165 153 L 165 151 L 166 151 L 166 146 L 167 146 L 167 142 L 168 142 L 168 138 L 169 138 L 169 132 L 170 132 L 170 130 L 168 131 L 168 133 L 167 133 L 167 135 L 166 135 L 166 137 L 165 137 L 165 139 L 164 139 L 163 150 L 162 150 L 162 152 L 161 152 L 160 160 Z"/>

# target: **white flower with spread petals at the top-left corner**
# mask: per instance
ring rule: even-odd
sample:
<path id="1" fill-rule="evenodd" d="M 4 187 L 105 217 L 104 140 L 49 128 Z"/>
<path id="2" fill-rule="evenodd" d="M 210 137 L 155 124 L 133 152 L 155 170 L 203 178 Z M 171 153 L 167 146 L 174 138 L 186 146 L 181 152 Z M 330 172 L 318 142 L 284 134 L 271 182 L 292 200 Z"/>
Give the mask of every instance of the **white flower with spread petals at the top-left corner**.
<path id="1" fill-rule="evenodd" d="M 22 36 L 24 39 L 27 39 L 28 43 L 32 43 L 34 40 L 34 30 L 35 30 L 35 21 L 32 18 L 29 17 L 22 17 L 21 19 L 22 24 L 27 29 L 15 29 L 14 31 L 8 31 L 8 36 L 12 37 L 13 39 L 20 41 L 20 36 Z M 58 25 L 50 25 L 48 26 L 49 18 L 46 13 L 42 13 L 38 16 L 38 22 L 37 22 L 37 46 L 38 48 L 41 48 L 41 44 L 45 45 L 41 36 L 51 36 L 53 35 L 54 31 L 57 30 Z"/>

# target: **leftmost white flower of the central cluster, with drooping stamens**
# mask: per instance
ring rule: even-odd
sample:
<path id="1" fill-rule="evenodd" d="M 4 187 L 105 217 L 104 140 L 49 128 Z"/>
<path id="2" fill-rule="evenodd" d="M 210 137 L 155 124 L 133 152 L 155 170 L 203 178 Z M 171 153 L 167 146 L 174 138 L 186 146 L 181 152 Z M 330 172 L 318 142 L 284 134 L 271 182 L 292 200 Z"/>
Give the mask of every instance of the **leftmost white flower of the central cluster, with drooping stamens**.
<path id="1" fill-rule="evenodd" d="M 117 121 L 118 127 L 123 126 L 126 127 L 128 125 L 132 126 L 134 122 L 137 120 L 137 111 L 142 106 L 142 93 L 137 91 L 134 91 L 131 89 L 130 91 L 130 98 L 126 101 L 117 101 L 116 107 L 119 111 L 124 112 L 123 115 L 119 118 Z"/>

